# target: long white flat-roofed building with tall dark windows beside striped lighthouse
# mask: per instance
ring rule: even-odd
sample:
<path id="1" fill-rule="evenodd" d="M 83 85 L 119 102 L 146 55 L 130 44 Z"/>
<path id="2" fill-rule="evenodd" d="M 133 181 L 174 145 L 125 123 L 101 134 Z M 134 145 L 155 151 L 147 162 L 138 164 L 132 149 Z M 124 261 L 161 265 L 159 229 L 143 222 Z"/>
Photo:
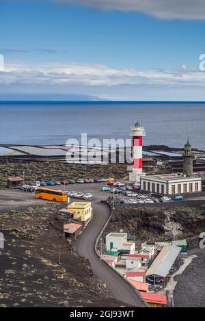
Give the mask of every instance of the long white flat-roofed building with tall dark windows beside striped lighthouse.
<path id="1" fill-rule="evenodd" d="M 174 174 L 148 175 L 140 178 L 140 186 L 141 190 L 162 195 L 202 192 L 202 178 Z"/>

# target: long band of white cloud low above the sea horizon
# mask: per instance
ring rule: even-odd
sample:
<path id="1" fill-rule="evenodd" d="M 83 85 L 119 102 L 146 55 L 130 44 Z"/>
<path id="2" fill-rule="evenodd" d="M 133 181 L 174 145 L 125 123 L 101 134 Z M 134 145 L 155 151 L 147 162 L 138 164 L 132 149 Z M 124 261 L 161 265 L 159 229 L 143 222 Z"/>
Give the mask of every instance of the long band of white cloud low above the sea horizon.
<path id="1" fill-rule="evenodd" d="M 172 71 L 163 69 L 137 70 L 110 68 L 102 64 L 68 62 L 44 63 L 30 67 L 16 62 L 0 73 L 1 85 L 74 85 L 90 87 L 113 86 L 194 86 L 205 87 L 205 72 L 182 65 Z"/>

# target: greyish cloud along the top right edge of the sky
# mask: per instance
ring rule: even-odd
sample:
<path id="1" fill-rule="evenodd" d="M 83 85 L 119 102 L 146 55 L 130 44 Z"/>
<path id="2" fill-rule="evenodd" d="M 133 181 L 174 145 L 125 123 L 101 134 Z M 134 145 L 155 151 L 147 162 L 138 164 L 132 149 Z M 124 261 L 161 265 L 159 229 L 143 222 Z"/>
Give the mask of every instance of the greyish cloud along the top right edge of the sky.
<path id="1" fill-rule="evenodd" d="M 205 19 L 204 0 L 52 0 L 102 10 L 136 11 L 162 19 Z"/>

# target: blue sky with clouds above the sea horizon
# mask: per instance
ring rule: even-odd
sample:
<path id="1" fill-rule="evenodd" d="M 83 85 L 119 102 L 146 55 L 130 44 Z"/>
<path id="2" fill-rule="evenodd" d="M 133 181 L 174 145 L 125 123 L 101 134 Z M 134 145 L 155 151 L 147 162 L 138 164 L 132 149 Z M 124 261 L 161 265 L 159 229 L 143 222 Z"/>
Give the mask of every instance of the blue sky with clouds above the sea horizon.
<path id="1" fill-rule="evenodd" d="M 205 100 L 203 1 L 180 2 L 0 0 L 0 93 Z"/>

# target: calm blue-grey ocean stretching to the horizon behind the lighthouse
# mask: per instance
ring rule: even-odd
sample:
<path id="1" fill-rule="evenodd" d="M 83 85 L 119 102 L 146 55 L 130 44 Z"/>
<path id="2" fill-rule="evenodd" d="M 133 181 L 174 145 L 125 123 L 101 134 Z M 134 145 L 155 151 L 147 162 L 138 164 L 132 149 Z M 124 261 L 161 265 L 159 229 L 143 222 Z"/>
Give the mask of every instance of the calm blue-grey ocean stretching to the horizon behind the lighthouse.
<path id="1" fill-rule="evenodd" d="M 0 103 L 0 144 L 66 144 L 68 138 L 128 138 L 137 120 L 144 144 L 205 149 L 205 103 Z"/>

